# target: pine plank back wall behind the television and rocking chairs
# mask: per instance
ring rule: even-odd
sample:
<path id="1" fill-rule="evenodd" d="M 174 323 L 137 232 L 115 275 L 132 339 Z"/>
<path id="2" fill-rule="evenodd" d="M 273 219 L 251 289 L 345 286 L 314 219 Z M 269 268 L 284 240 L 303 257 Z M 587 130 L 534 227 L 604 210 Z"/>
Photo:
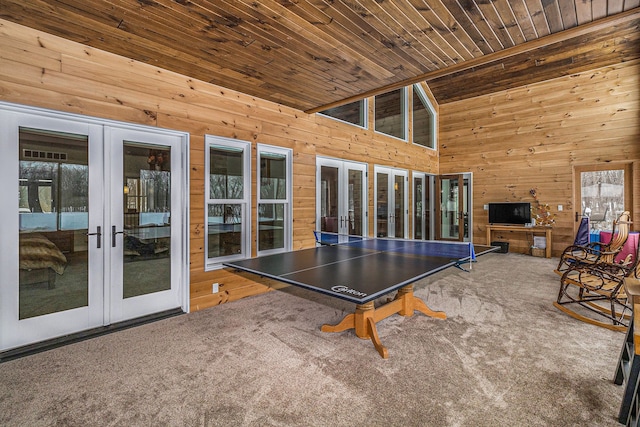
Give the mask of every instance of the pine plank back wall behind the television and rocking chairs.
<path id="1" fill-rule="evenodd" d="M 640 61 L 441 104 L 439 144 L 440 173 L 473 172 L 478 242 L 486 239 L 484 204 L 534 202 L 536 188 L 557 216 L 558 256 L 575 236 L 573 168 L 580 165 L 633 163 L 633 229 L 640 229 Z M 493 238 L 529 250 L 522 233 Z"/>

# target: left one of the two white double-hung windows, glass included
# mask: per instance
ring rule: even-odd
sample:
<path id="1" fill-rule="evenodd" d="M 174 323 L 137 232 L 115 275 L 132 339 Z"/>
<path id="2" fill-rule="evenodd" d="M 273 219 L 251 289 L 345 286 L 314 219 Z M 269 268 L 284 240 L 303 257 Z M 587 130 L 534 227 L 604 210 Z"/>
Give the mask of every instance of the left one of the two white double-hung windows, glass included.
<path id="1" fill-rule="evenodd" d="M 207 267 L 212 267 L 251 253 L 251 144 L 209 135 L 205 141 L 205 247 Z"/>

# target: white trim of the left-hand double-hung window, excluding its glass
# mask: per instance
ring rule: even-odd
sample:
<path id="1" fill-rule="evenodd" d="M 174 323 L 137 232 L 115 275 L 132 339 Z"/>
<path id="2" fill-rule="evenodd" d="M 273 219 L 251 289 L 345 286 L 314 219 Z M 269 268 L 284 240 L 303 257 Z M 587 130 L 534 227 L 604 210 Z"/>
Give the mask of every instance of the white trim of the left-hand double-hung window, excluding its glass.
<path id="1" fill-rule="evenodd" d="M 204 203 L 204 258 L 205 271 L 217 270 L 222 268 L 222 263 L 231 260 L 244 259 L 251 257 L 251 143 L 240 141 L 237 139 L 224 138 L 220 136 L 205 135 L 205 203 Z M 211 199 L 210 198 L 210 149 L 211 147 L 228 147 L 241 149 L 243 153 L 243 189 L 244 197 L 242 199 Z M 209 205 L 212 203 L 224 204 L 242 204 L 242 249 L 240 254 L 209 258 Z"/>

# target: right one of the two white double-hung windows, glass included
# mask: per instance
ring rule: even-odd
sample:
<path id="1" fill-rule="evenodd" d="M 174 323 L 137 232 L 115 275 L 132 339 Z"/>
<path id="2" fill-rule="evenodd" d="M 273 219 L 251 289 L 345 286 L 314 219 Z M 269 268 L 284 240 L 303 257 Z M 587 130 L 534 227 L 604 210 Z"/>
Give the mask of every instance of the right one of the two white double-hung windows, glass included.
<path id="1" fill-rule="evenodd" d="M 291 150 L 258 144 L 258 255 L 291 249 Z"/>

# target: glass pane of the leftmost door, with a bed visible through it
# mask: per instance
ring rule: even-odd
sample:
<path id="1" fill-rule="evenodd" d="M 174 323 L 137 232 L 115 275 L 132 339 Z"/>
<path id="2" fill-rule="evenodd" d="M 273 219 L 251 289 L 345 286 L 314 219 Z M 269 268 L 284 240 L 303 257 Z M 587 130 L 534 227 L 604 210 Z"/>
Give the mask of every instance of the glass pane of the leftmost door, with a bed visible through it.
<path id="1" fill-rule="evenodd" d="M 20 129 L 19 318 L 88 305 L 88 138 Z"/>

